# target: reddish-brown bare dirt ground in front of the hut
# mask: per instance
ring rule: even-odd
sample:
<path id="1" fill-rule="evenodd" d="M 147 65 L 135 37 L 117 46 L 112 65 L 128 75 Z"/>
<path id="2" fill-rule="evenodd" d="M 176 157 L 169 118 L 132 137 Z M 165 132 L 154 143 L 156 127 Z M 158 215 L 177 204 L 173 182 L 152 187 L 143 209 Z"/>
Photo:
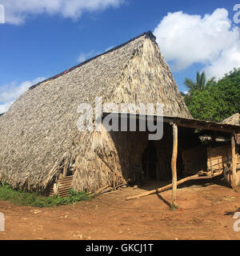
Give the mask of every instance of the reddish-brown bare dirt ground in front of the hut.
<path id="1" fill-rule="evenodd" d="M 0 239 L 240 239 L 233 218 L 240 212 L 240 188 L 234 191 L 219 179 L 188 182 L 178 189 L 178 210 L 170 210 L 171 190 L 126 201 L 150 189 L 151 184 L 127 187 L 54 208 L 0 202 L 6 218 Z"/>

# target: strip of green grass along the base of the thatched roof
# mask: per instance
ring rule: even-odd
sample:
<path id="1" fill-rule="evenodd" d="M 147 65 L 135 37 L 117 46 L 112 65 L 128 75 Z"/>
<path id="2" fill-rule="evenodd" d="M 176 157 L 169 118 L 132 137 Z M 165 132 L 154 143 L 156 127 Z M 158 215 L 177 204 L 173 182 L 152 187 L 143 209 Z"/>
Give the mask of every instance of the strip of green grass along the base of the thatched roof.
<path id="1" fill-rule="evenodd" d="M 1 186 L 2 185 L 2 186 Z M 0 201 L 13 202 L 18 206 L 35 206 L 35 207 L 51 207 L 51 206 L 62 206 L 70 205 L 74 202 L 80 202 L 90 200 L 93 198 L 92 195 L 85 191 L 77 192 L 72 189 L 69 190 L 67 197 L 43 197 L 42 195 L 33 192 L 26 192 L 20 190 L 14 190 L 11 186 L 6 183 L 0 182 Z"/>

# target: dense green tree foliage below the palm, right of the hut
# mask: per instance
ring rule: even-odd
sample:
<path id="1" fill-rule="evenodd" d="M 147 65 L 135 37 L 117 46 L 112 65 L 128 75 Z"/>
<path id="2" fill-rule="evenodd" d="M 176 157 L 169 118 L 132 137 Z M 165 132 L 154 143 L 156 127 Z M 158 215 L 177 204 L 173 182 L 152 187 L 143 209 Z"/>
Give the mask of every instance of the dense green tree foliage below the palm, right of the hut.
<path id="1" fill-rule="evenodd" d="M 210 79 L 204 88 L 190 89 L 184 99 L 197 119 L 221 122 L 240 112 L 240 68 L 230 71 L 218 82 Z"/>

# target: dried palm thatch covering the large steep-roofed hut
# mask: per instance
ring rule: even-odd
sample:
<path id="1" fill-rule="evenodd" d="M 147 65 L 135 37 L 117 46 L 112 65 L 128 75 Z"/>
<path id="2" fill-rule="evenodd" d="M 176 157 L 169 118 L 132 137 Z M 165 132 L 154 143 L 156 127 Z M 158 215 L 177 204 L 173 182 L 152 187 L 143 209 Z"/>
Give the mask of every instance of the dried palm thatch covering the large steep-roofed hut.
<path id="1" fill-rule="evenodd" d="M 71 170 L 75 190 L 121 182 L 141 161 L 145 133 L 80 132 L 78 105 L 164 104 L 164 114 L 191 118 L 150 32 L 32 86 L 0 118 L 0 178 L 26 190 L 45 190 Z M 140 138 L 140 139 L 139 139 Z M 139 145 L 139 140 L 142 141 Z"/>

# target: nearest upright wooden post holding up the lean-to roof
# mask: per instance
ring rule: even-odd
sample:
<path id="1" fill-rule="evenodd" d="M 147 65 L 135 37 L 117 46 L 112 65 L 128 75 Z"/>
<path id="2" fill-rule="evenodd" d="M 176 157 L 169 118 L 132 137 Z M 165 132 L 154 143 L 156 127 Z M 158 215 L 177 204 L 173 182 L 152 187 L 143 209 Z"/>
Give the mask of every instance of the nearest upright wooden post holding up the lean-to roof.
<path id="1" fill-rule="evenodd" d="M 177 157 L 178 157 L 178 126 L 175 123 L 171 123 L 173 126 L 173 154 L 171 161 L 172 168 L 172 186 L 173 186 L 173 198 L 172 206 L 176 206 L 177 197 Z"/>

